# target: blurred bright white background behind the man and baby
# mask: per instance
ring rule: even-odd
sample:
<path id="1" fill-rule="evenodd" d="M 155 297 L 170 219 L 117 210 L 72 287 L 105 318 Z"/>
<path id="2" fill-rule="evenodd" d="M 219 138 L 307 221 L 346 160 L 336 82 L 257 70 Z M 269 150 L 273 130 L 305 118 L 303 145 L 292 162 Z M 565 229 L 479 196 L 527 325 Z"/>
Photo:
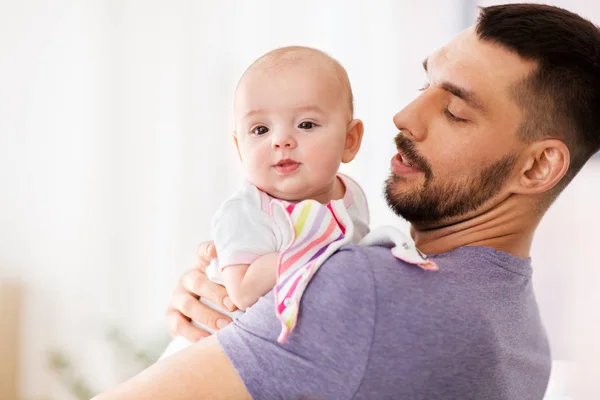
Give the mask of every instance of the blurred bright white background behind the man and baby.
<path id="1" fill-rule="evenodd" d="M 392 116 L 421 61 L 493 3 L 0 0 L 0 400 L 86 398 L 160 353 L 170 292 L 241 181 L 232 94 L 266 51 L 313 46 L 347 68 L 366 132 L 344 172 L 373 226 L 406 228 L 381 196 Z M 598 3 L 549 3 L 600 23 Z M 577 399 L 600 398 L 599 182 L 596 158 L 532 252 Z"/>

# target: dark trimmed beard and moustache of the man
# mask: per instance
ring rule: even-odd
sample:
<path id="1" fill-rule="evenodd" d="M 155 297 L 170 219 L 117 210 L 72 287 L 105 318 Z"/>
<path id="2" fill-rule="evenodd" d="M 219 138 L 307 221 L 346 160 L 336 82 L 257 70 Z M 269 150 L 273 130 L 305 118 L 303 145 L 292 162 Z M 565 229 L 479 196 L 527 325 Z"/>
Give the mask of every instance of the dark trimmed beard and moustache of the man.
<path id="1" fill-rule="evenodd" d="M 410 191 L 397 188 L 404 178 L 393 172 L 385 182 L 384 195 L 389 207 L 413 225 L 432 226 L 477 210 L 498 194 L 517 161 L 515 154 L 509 154 L 479 172 L 468 171 L 467 177 L 435 182 L 431 167 L 416 153 L 412 141 L 399 134 L 396 145 L 411 165 L 425 175 L 423 187 Z"/>

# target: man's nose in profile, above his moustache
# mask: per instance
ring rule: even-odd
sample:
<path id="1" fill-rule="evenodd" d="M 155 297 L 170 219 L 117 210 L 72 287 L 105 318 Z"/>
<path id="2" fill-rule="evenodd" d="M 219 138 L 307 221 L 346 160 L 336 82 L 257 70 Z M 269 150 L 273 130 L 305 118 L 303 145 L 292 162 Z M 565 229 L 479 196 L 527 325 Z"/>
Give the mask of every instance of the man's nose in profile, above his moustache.
<path id="1" fill-rule="evenodd" d="M 394 115 L 394 125 L 410 139 L 419 142 L 427 137 L 429 121 L 434 118 L 434 99 L 427 92 Z"/>

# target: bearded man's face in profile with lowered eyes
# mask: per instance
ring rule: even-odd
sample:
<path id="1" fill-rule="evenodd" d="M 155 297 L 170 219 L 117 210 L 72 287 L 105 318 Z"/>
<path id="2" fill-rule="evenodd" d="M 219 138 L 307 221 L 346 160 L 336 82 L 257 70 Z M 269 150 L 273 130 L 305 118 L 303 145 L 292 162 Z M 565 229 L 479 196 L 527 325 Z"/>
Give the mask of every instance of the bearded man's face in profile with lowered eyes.
<path id="1" fill-rule="evenodd" d="M 512 90 L 535 64 L 479 40 L 473 28 L 424 63 L 422 93 L 394 116 L 400 130 L 385 195 L 422 228 L 456 223 L 510 195 L 524 143 Z"/>

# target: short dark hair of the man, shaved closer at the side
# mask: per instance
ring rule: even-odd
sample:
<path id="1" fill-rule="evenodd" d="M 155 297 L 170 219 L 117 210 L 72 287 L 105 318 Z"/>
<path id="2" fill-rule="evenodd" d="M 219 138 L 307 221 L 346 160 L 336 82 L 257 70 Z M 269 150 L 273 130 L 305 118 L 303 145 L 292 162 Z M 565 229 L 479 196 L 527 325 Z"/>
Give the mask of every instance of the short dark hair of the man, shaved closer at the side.
<path id="1" fill-rule="evenodd" d="M 493 42 L 537 68 L 514 94 L 524 118 L 519 136 L 526 142 L 554 137 L 571 155 L 560 192 L 600 150 L 600 31 L 592 22 L 562 8 L 507 4 L 481 8 L 480 40 Z"/>

